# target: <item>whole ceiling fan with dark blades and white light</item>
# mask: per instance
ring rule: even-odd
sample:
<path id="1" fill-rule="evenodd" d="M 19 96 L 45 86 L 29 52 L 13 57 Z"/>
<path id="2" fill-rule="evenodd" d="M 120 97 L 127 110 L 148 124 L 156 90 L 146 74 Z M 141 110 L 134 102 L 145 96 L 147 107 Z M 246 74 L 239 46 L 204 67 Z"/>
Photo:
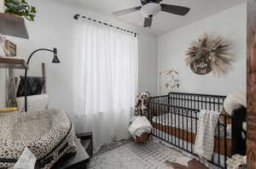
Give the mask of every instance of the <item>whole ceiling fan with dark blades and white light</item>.
<path id="1" fill-rule="evenodd" d="M 190 8 L 181 7 L 177 5 L 170 5 L 166 3 L 160 3 L 162 0 L 141 0 L 143 6 L 138 6 L 135 8 L 127 8 L 125 10 L 120 10 L 118 12 L 113 13 L 115 16 L 120 16 L 123 14 L 130 14 L 132 12 L 136 12 L 141 10 L 144 20 L 144 27 L 151 27 L 153 16 L 155 14 L 160 13 L 160 11 L 177 14 L 177 15 L 185 15 L 189 13 Z"/>

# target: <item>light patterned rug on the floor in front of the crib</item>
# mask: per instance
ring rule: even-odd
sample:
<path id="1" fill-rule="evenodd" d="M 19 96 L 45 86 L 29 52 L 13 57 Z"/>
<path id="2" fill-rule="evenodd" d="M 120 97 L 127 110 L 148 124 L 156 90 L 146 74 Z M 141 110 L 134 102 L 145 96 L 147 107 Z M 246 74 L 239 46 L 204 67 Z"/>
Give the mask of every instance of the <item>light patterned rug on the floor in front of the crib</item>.
<path id="1" fill-rule="evenodd" d="M 166 161 L 186 165 L 191 159 L 163 144 L 125 144 L 91 159 L 89 169 L 174 169 Z"/>

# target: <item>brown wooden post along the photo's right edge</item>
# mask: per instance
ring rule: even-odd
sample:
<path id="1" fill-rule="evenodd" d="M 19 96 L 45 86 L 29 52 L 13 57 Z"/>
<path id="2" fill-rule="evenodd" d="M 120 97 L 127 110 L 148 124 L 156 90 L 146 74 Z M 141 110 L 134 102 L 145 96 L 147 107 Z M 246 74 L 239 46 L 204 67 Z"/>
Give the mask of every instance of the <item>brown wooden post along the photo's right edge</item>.
<path id="1" fill-rule="evenodd" d="M 247 0 L 247 168 L 256 168 L 256 0 Z"/>

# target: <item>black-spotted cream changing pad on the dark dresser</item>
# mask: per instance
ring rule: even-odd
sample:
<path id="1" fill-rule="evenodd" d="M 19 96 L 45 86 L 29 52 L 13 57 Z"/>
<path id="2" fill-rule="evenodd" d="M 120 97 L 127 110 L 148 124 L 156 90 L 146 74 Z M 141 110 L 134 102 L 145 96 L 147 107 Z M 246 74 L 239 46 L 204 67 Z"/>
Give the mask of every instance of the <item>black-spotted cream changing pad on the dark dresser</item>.
<path id="1" fill-rule="evenodd" d="M 1 115 L 0 126 L 0 168 L 14 166 L 26 147 L 42 169 L 75 150 L 73 125 L 63 110 Z"/>

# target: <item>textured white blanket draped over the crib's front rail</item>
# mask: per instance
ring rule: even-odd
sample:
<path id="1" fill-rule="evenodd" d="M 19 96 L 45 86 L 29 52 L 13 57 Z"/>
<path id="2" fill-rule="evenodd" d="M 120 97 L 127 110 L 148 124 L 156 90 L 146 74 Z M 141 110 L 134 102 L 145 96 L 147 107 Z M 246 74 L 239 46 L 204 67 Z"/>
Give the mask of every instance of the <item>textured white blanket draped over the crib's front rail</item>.
<path id="1" fill-rule="evenodd" d="M 197 134 L 195 138 L 195 154 L 209 161 L 212 160 L 214 149 L 215 128 L 219 113 L 212 110 L 201 110 L 199 114 Z"/>

